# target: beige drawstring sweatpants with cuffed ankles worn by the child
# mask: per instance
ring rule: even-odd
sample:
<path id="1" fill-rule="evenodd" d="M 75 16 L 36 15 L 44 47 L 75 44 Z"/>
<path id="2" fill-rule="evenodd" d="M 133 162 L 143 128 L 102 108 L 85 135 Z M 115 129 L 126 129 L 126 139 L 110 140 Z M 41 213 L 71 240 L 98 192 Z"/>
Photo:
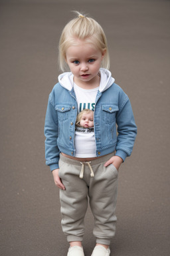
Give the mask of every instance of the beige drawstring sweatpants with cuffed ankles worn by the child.
<path id="1" fill-rule="evenodd" d="M 81 163 L 60 154 L 59 176 L 66 187 L 60 189 L 61 223 L 68 242 L 83 239 L 89 197 L 96 243 L 110 245 L 116 230 L 118 171 L 112 164 L 104 167 L 104 163 L 113 155 Z"/>

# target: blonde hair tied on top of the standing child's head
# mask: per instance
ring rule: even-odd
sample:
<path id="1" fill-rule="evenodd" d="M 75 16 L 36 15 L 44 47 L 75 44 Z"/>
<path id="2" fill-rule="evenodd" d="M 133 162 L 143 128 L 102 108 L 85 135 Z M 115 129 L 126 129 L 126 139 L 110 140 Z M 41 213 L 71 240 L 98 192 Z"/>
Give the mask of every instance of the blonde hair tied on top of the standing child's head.
<path id="1" fill-rule="evenodd" d="M 108 53 L 108 43 L 106 35 L 97 21 L 90 17 L 86 17 L 75 11 L 78 17 L 72 19 L 64 27 L 59 41 L 58 63 L 62 71 L 66 71 L 66 50 L 70 45 L 75 45 L 75 39 L 86 40 L 93 43 L 102 53 L 106 51 L 104 59 L 102 59 L 102 67 L 109 69 L 110 57 Z"/>

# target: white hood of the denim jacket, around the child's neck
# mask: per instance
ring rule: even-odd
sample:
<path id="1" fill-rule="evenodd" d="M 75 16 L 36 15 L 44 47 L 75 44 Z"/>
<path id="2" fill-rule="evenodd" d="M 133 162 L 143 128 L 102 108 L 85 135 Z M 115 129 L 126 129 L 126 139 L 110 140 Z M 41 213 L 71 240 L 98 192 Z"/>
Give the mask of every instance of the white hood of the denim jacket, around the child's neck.
<path id="1" fill-rule="evenodd" d="M 58 82 L 62 87 L 71 91 L 74 85 L 74 75 L 71 72 L 65 72 L 58 76 Z M 112 73 L 108 69 L 100 69 L 100 85 L 99 91 L 102 93 L 106 91 L 113 83 L 115 79 L 112 77 Z"/>

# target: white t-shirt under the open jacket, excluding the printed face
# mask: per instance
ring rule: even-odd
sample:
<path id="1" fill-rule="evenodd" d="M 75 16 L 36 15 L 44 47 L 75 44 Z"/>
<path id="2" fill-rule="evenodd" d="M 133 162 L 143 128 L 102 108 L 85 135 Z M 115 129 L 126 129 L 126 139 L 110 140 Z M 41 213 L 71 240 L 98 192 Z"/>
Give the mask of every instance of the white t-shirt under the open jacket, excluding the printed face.
<path id="1" fill-rule="evenodd" d="M 82 89 L 74 83 L 74 92 L 78 103 L 78 113 L 83 109 L 94 110 L 98 88 L 99 87 L 94 89 Z M 74 147 L 76 149 L 75 157 L 96 157 L 94 129 L 76 127 Z"/>

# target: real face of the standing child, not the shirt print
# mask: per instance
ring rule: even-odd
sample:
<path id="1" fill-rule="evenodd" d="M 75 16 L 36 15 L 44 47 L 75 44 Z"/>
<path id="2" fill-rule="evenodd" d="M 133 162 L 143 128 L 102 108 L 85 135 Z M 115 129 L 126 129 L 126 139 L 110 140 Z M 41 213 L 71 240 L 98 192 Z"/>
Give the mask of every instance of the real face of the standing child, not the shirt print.
<path id="1" fill-rule="evenodd" d="M 98 72 L 105 52 L 80 39 L 75 39 L 75 43 L 66 50 L 66 62 L 74 75 L 74 82 L 84 89 L 96 88 L 100 83 Z"/>

